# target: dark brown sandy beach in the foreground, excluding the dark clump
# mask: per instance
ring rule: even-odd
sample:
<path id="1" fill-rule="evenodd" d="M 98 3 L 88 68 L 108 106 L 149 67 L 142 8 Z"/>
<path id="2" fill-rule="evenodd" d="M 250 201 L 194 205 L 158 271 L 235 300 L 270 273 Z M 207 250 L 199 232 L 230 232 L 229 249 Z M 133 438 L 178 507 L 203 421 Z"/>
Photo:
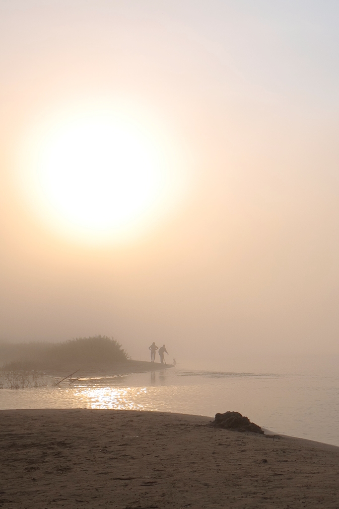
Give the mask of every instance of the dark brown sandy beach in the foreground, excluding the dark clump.
<path id="1" fill-rule="evenodd" d="M 2 410 L 0 507 L 339 507 L 339 447 L 206 427 L 210 420 Z"/>

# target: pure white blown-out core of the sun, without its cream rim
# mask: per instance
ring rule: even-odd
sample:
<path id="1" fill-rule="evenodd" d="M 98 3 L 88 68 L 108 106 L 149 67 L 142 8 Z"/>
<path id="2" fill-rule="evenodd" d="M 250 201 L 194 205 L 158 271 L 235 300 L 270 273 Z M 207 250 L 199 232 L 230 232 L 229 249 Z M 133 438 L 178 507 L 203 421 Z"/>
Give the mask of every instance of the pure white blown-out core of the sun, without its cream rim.
<path id="1" fill-rule="evenodd" d="M 50 205 L 90 229 L 131 221 L 157 201 L 164 184 L 155 147 L 113 119 L 62 127 L 42 150 L 38 172 Z"/>

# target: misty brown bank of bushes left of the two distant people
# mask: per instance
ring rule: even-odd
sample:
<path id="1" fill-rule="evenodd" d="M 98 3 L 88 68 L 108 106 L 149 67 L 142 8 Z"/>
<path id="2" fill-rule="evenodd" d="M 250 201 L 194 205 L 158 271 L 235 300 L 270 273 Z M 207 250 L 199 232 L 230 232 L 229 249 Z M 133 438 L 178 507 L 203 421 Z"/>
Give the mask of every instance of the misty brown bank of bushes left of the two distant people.
<path id="1" fill-rule="evenodd" d="M 0 343 L 0 365 L 6 369 L 72 371 L 106 368 L 129 359 L 107 336 L 77 337 L 64 343 Z"/>

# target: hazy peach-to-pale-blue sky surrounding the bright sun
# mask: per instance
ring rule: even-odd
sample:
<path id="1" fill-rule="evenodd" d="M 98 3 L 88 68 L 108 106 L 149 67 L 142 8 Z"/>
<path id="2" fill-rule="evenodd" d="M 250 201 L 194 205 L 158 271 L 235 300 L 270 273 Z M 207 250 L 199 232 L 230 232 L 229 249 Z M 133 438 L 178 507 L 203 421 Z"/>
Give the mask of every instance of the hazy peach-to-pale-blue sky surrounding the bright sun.
<path id="1" fill-rule="evenodd" d="M 0 41 L 2 340 L 106 334 L 225 368 L 339 353 L 337 2 L 0 0 Z M 72 239 L 18 154 L 121 98 L 180 192 L 128 239 Z"/>

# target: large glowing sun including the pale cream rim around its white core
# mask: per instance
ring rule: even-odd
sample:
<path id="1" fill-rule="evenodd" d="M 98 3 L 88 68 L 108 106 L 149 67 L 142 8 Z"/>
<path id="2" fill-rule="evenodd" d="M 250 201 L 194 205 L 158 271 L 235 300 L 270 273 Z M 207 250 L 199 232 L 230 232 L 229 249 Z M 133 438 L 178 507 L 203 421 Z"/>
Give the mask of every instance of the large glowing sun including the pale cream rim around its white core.
<path id="1" fill-rule="evenodd" d="M 116 110 L 58 115 L 25 145 L 26 197 L 64 234 L 87 240 L 136 234 L 175 201 L 175 150 L 140 117 Z"/>

